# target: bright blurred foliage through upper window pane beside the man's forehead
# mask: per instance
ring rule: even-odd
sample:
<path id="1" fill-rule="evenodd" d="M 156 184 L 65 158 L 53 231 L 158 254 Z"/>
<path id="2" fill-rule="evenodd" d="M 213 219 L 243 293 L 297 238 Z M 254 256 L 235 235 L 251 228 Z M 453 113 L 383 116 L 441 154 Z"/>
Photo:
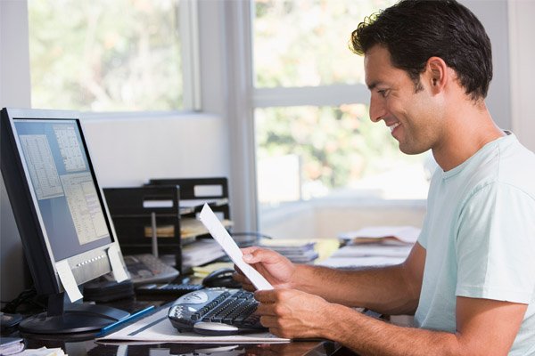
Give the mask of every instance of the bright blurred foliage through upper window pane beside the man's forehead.
<path id="1" fill-rule="evenodd" d="M 256 87 L 364 83 L 349 50 L 358 22 L 393 0 L 256 0 Z"/>

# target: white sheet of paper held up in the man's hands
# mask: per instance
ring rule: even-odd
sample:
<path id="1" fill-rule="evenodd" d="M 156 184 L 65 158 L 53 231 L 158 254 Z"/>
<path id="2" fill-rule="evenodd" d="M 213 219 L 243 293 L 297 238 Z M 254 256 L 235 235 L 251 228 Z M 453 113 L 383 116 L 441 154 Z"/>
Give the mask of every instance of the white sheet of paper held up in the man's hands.
<path id="1" fill-rule="evenodd" d="M 199 214 L 199 220 L 202 224 L 210 231 L 210 235 L 219 245 L 223 247 L 231 260 L 238 266 L 240 270 L 243 271 L 243 274 L 251 280 L 254 287 L 257 287 L 259 290 L 264 289 L 273 289 L 273 286 L 265 279 L 259 271 L 251 267 L 251 265 L 243 262 L 243 253 L 240 247 L 235 243 L 235 240 L 228 234 L 223 224 L 219 221 L 218 217 L 210 209 L 208 204 L 202 206 L 201 214 Z"/>

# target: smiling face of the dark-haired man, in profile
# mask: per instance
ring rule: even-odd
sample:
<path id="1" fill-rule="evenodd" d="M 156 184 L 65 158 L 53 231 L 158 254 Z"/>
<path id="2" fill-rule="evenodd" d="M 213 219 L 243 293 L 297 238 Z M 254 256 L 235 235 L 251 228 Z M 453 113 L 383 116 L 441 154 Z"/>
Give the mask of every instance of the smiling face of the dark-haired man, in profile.
<path id="1" fill-rule="evenodd" d="M 416 93 L 413 80 L 392 66 L 390 53 L 381 45 L 366 52 L 364 67 L 371 92 L 370 119 L 384 121 L 399 142 L 399 150 L 418 154 L 437 144 L 440 112 L 429 86 L 422 81 L 422 90 Z"/>

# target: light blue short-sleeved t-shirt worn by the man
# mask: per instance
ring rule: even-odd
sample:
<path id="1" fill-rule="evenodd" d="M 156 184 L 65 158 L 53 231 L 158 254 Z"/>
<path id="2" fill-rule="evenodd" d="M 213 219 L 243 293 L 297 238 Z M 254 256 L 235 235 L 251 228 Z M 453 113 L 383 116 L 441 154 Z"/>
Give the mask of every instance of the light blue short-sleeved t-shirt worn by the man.
<path id="1" fill-rule="evenodd" d="M 454 333 L 456 296 L 526 303 L 509 355 L 535 354 L 535 154 L 514 134 L 489 142 L 437 169 L 427 205 L 416 325 Z"/>

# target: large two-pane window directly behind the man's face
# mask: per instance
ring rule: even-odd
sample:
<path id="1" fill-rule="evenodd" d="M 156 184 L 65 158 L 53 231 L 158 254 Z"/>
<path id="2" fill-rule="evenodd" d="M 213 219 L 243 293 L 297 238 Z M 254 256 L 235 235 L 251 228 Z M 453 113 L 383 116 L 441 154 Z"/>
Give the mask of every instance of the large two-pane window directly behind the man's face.
<path id="1" fill-rule="evenodd" d="M 351 32 L 393 0 L 256 0 L 253 106 L 259 223 L 284 203 L 342 196 L 421 199 L 426 155 L 407 156 L 369 120 Z"/>

